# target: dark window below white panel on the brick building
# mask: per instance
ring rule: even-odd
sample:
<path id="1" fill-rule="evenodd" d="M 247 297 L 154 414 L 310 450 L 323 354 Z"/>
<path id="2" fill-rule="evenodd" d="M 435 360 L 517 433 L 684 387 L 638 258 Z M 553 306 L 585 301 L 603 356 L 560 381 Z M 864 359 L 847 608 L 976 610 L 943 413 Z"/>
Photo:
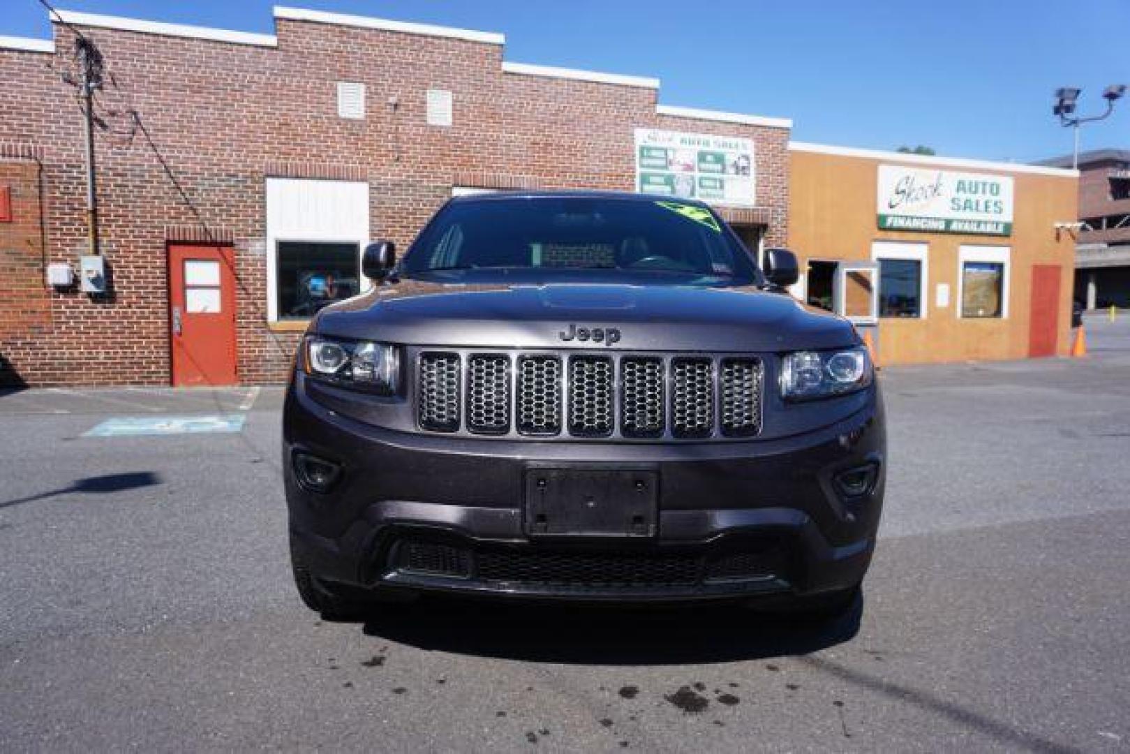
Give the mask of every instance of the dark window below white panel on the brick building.
<path id="1" fill-rule="evenodd" d="M 280 241 L 279 319 L 310 319 L 333 302 L 360 293 L 359 251 L 356 243 Z"/>

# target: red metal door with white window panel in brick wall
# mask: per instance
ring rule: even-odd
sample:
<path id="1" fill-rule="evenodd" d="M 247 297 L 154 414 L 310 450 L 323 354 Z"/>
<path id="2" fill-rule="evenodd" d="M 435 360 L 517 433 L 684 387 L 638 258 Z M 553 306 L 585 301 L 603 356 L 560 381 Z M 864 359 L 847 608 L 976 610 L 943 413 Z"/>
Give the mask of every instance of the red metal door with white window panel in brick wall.
<path id="1" fill-rule="evenodd" d="M 229 246 L 168 248 L 173 384 L 235 384 L 235 271 Z"/>

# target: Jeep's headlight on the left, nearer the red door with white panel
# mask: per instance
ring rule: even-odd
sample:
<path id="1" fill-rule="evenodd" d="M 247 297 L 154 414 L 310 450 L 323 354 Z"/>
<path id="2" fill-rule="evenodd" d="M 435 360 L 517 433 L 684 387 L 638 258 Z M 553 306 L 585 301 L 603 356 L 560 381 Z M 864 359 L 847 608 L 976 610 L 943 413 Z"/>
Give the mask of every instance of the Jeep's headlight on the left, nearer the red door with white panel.
<path id="1" fill-rule="evenodd" d="M 303 355 L 306 374 L 385 396 L 400 390 L 400 348 L 397 346 L 311 336 L 306 338 Z"/>

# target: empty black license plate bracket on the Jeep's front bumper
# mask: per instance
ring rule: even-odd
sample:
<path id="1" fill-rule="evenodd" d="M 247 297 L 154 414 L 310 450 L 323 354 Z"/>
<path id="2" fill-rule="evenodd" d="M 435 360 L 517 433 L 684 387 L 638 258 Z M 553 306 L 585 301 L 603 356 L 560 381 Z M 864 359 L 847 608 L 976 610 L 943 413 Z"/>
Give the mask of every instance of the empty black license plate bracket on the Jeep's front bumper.
<path id="1" fill-rule="evenodd" d="M 654 537 L 659 475 L 651 470 L 538 468 L 525 473 L 529 537 Z"/>

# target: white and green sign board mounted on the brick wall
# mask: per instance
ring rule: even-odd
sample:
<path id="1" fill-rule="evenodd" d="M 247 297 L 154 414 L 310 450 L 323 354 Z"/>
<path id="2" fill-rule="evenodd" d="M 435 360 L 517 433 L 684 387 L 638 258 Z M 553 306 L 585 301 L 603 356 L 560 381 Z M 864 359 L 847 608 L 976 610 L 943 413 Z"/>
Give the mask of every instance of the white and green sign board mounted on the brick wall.
<path id="1" fill-rule="evenodd" d="M 754 142 L 709 133 L 635 130 L 636 190 L 753 207 Z"/>

